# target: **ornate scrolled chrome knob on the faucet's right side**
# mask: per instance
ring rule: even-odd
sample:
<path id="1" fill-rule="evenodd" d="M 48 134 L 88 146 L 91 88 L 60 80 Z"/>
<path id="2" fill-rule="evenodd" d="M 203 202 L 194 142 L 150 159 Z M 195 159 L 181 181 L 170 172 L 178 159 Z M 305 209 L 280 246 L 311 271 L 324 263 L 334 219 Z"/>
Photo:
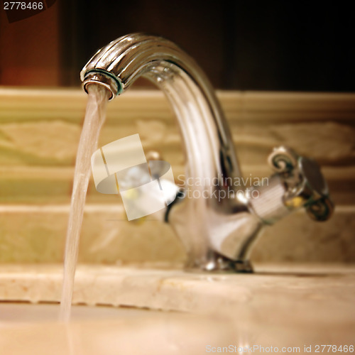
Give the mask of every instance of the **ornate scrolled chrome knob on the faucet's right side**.
<path id="1" fill-rule="evenodd" d="M 285 185 L 283 203 L 288 209 L 305 207 L 316 221 L 326 221 L 334 204 L 329 197 L 327 182 L 320 166 L 310 158 L 297 155 L 292 149 L 280 146 L 268 156 L 268 164 Z"/>

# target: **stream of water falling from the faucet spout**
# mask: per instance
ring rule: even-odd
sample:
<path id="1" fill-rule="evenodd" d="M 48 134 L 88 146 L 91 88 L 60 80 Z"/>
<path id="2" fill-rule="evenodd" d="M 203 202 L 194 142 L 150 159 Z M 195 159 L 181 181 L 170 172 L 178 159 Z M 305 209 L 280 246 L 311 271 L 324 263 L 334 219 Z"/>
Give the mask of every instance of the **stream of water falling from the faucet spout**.
<path id="1" fill-rule="evenodd" d="M 79 148 L 77 149 L 72 200 L 67 225 L 67 240 L 65 244 L 62 297 L 60 300 L 60 320 L 64 322 L 70 320 L 75 266 L 77 264 L 82 217 L 90 178 L 90 160 L 92 153 L 97 149 L 97 141 L 106 118 L 106 106 L 109 99 L 109 92 L 104 87 L 91 84 L 87 88 L 89 99 Z"/>

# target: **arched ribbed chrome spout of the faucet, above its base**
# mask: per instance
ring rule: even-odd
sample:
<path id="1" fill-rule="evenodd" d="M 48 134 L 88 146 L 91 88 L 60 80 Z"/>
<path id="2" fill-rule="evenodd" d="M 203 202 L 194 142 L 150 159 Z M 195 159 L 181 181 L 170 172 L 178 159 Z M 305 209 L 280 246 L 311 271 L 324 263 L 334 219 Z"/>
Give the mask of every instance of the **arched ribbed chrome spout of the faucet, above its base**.
<path id="1" fill-rule="evenodd" d="M 188 175 L 205 179 L 239 176 L 239 165 L 223 111 L 211 84 L 194 60 L 164 38 L 133 34 L 99 50 L 81 72 L 84 89 L 100 74 L 114 79 L 104 84 L 111 99 L 138 77 L 154 82 L 168 98 L 178 118 L 187 155 Z"/>

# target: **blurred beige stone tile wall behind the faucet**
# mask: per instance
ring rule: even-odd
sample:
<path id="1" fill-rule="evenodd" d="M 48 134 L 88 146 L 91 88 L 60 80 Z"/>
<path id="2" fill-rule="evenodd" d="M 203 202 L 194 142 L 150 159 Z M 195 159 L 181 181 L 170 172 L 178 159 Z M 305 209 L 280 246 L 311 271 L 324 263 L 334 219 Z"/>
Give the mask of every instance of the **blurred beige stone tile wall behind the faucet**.
<path id="1" fill-rule="evenodd" d="M 316 224 L 303 212 L 268 227 L 254 261 L 355 261 L 355 94 L 218 92 L 245 176 L 268 176 L 273 146 L 287 144 L 322 165 L 337 209 Z M 70 190 L 87 96 L 79 89 L 0 89 L 0 262 L 62 260 Z M 173 114 L 158 91 L 109 103 L 100 145 L 139 133 L 182 174 Z M 117 196 L 91 184 L 82 262 L 182 262 L 170 226 L 127 222 Z"/>

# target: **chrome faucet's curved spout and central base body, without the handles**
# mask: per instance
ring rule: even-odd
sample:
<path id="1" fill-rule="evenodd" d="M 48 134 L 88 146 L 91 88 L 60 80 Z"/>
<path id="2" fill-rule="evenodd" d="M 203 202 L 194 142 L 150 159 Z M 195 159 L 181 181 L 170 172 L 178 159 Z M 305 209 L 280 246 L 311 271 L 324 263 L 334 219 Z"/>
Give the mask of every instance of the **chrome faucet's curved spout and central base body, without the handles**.
<path id="1" fill-rule="evenodd" d="M 90 84 L 104 85 L 110 99 L 138 77 L 148 78 L 164 92 L 185 144 L 185 178 L 203 182 L 186 186 L 184 198 L 168 211 L 188 264 L 250 271 L 246 258 L 265 221 L 255 212 L 258 203 L 253 206 L 236 194 L 233 183 L 226 183 L 241 176 L 239 164 L 212 85 L 195 61 L 169 40 L 136 33 L 100 49 L 80 75 L 85 90 Z"/>

